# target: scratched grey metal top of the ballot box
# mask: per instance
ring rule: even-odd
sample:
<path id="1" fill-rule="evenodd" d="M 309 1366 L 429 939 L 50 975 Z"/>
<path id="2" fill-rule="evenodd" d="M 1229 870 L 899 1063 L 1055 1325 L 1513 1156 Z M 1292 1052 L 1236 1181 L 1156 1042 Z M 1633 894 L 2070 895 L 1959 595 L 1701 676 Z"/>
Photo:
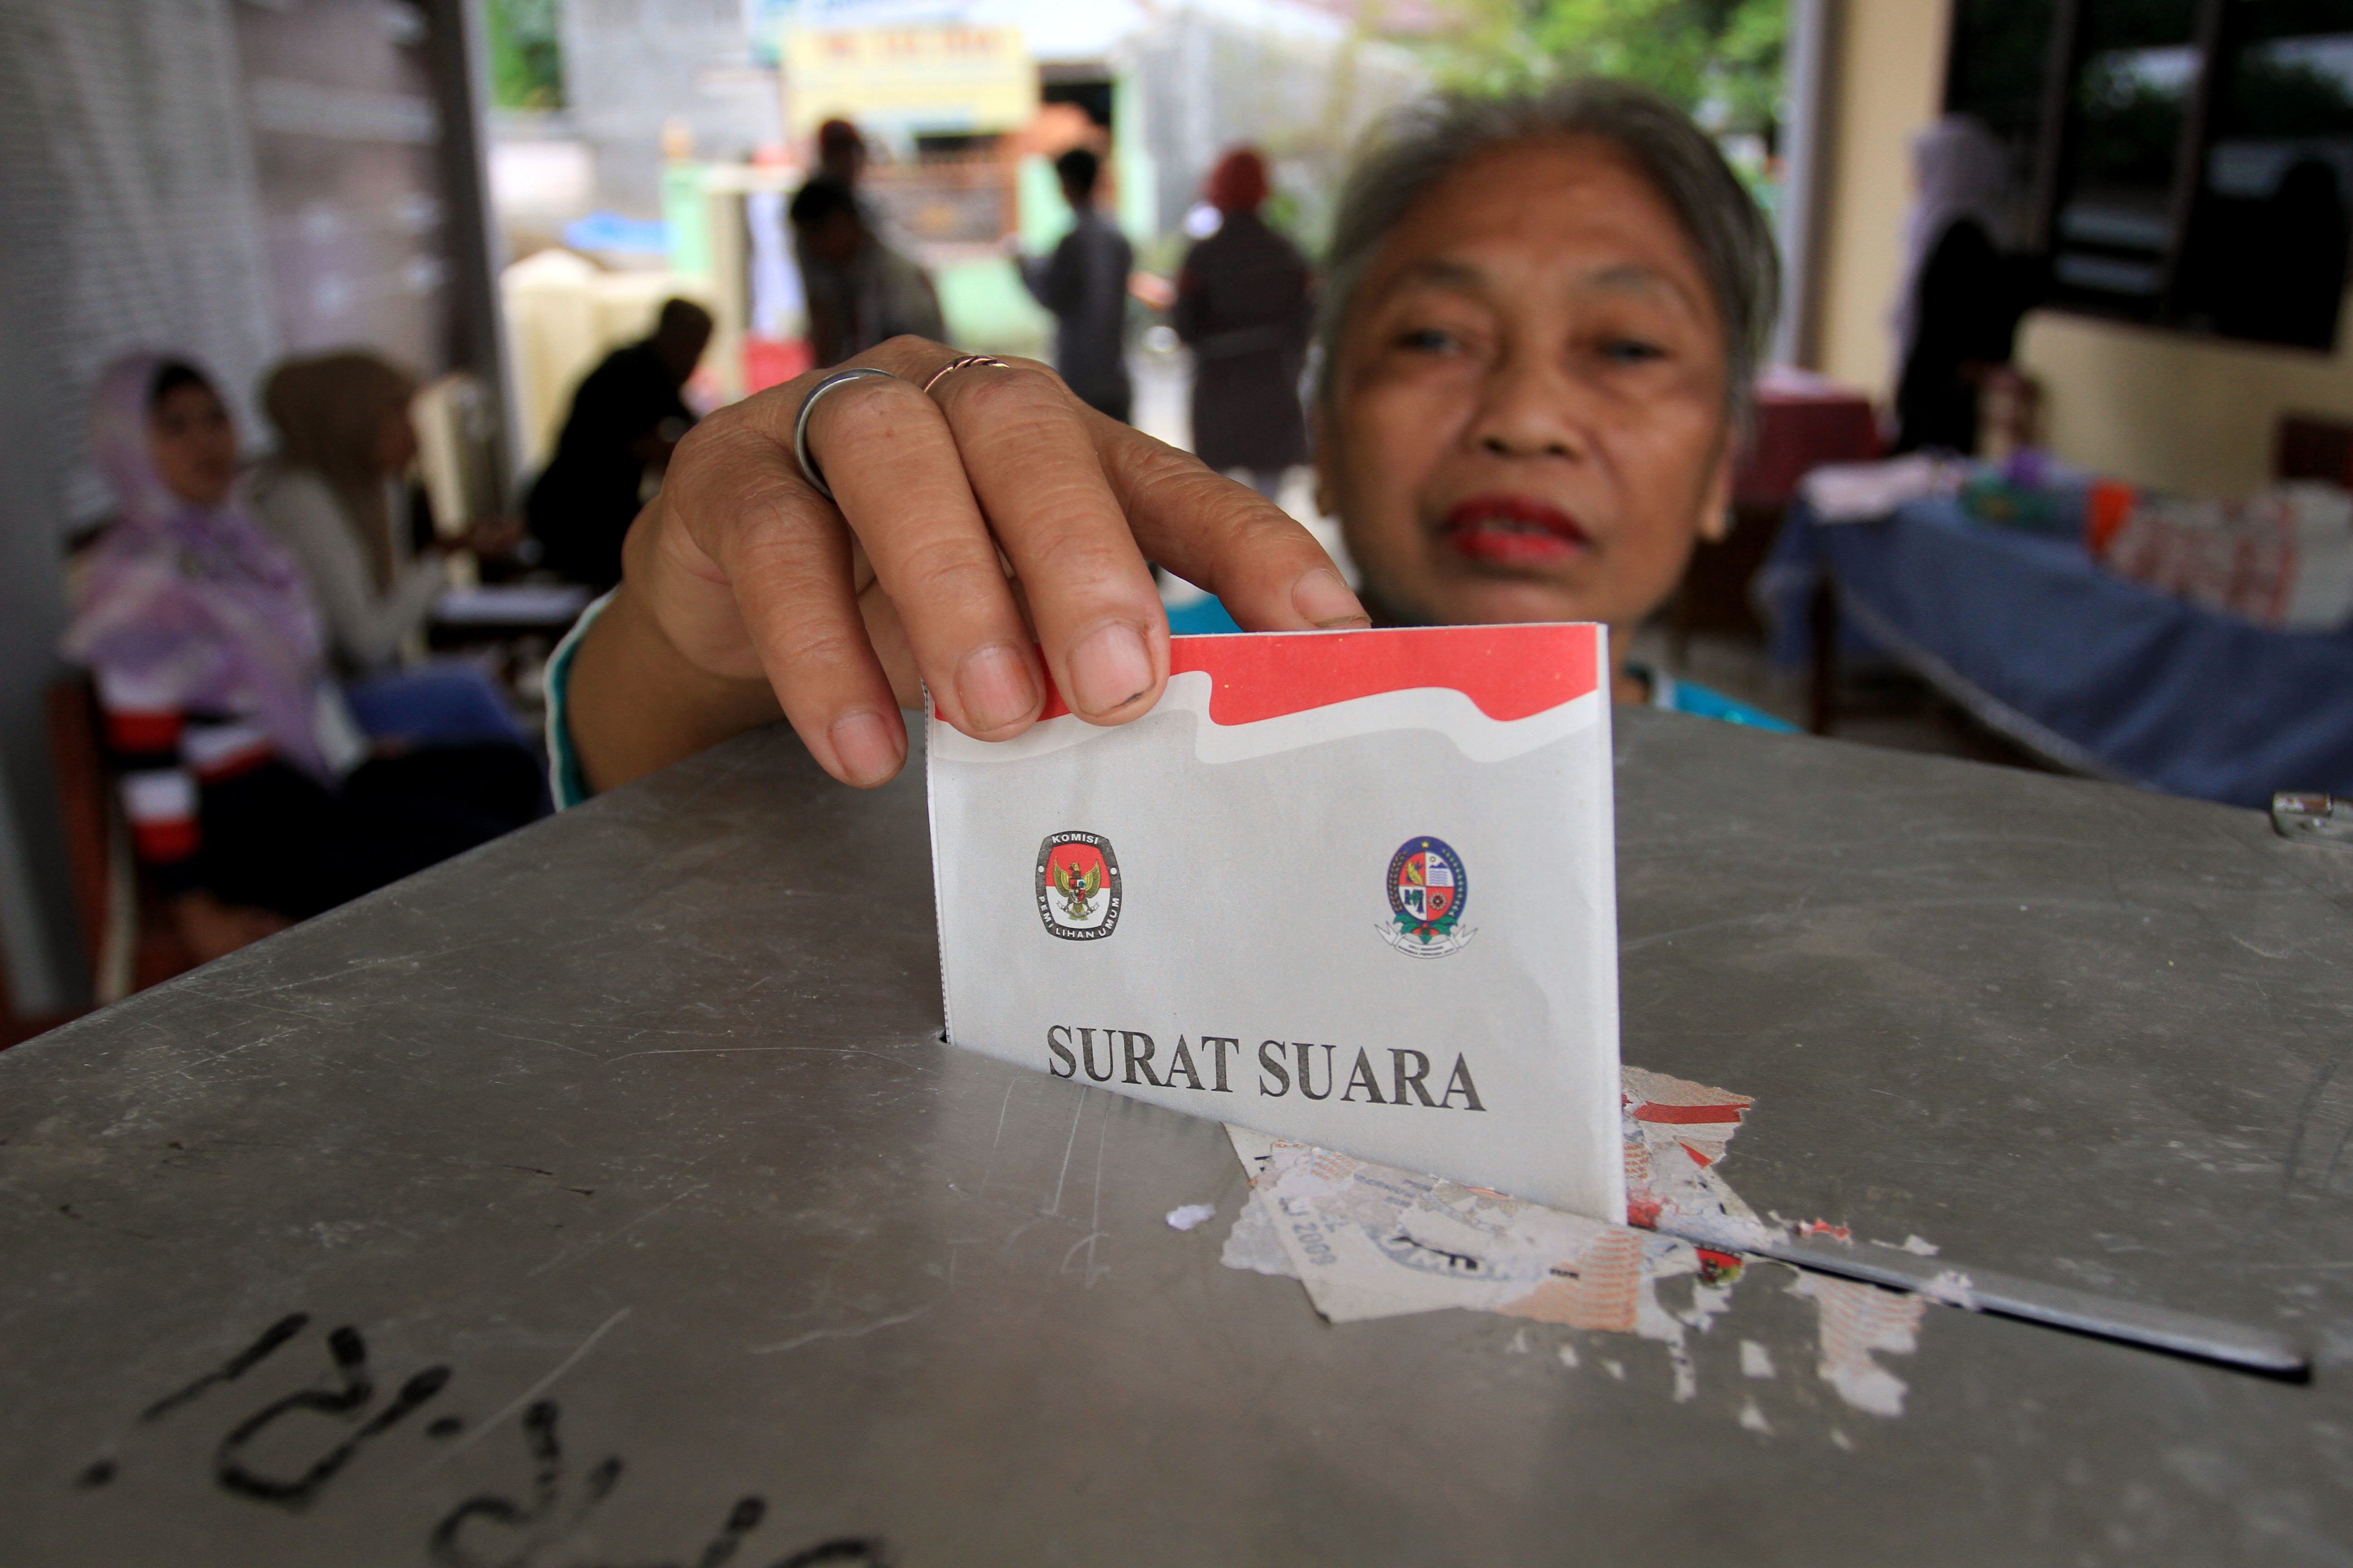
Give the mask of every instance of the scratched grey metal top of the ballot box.
<path id="1" fill-rule="evenodd" d="M 1932 1309 L 1875 1418 L 1774 1265 L 1687 1403 L 1640 1340 L 1329 1328 L 1219 1267 L 1217 1126 L 932 1039 L 920 780 L 767 733 L 0 1056 L 0 1561 L 2353 1559 L 2353 856 L 1619 726 L 1626 1058 L 1758 1095 L 1760 1211 L 2315 1382 Z"/>

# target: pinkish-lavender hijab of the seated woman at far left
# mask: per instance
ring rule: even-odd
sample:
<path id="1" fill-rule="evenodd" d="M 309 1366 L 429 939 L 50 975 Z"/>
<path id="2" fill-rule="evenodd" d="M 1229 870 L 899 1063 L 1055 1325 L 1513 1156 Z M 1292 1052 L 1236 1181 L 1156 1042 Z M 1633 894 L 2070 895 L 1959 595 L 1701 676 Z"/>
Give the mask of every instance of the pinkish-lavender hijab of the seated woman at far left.
<path id="1" fill-rule="evenodd" d="M 301 569 L 240 498 L 191 505 L 155 470 L 148 411 L 172 362 L 125 355 L 99 376 L 92 440 L 122 515 L 92 548 L 61 651 L 141 703 L 259 724 L 280 757 L 329 780 L 320 625 Z"/>

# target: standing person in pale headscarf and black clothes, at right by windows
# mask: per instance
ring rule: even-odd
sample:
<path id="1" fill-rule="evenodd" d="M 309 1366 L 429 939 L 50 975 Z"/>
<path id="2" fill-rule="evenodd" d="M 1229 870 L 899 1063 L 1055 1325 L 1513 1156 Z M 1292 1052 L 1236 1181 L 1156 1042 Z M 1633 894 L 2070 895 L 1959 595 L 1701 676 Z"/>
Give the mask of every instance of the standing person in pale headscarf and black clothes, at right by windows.
<path id="1" fill-rule="evenodd" d="M 1897 289 L 1894 451 L 1977 451 L 1977 393 L 2009 362 L 2026 308 L 2009 237 L 2009 155 L 1974 115 L 1913 139 L 1913 197 Z"/>

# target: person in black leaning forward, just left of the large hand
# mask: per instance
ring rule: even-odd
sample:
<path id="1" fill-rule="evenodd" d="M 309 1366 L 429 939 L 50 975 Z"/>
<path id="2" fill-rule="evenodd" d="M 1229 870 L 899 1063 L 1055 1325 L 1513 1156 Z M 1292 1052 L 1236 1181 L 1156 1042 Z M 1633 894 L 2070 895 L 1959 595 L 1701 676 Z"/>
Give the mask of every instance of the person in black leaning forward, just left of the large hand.
<path id="1" fill-rule="evenodd" d="M 708 346 L 711 313 L 664 301 L 654 336 L 605 355 L 572 393 L 555 456 L 525 501 L 548 567 L 600 590 L 621 581 L 621 538 L 645 505 L 647 477 L 661 477 L 694 425 L 680 388 Z"/>

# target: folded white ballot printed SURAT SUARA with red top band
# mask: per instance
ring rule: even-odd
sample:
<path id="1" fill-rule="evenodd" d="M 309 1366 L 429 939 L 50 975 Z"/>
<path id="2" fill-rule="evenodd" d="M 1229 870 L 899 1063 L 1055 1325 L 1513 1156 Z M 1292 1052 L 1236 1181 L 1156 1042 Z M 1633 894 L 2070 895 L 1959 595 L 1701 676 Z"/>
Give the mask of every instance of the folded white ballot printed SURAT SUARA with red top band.
<path id="1" fill-rule="evenodd" d="M 1169 668 L 1115 729 L 932 717 L 951 1044 L 1621 1222 L 1607 630 Z"/>

